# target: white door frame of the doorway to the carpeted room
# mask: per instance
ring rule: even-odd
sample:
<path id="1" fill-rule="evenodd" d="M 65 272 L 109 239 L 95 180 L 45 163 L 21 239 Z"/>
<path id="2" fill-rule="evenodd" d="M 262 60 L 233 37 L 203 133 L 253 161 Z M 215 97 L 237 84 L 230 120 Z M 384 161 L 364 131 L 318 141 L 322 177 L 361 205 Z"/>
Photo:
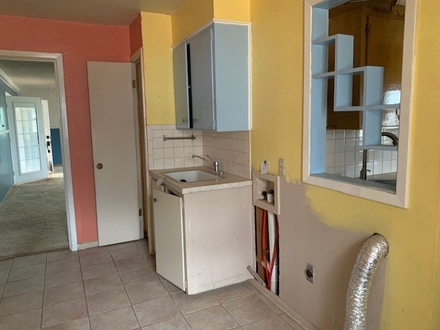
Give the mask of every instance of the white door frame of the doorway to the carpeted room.
<path id="1" fill-rule="evenodd" d="M 60 135 L 61 153 L 63 155 L 63 175 L 65 187 L 65 201 L 67 214 L 67 231 L 69 234 L 69 248 L 71 251 L 78 250 L 76 236 L 76 218 L 74 209 L 74 190 L 72 184 L 72 166 L 70 162 L 69 130 L 67 129 L 67 106 L 64 85 L 63 54 L 47 52 L 25 52 L 16 50 L 0 50 L 0 58 L 8 60 L 41 61 L 54 63 L 56 86 L 58 89 L 58 102 L 60 105 Z"/>

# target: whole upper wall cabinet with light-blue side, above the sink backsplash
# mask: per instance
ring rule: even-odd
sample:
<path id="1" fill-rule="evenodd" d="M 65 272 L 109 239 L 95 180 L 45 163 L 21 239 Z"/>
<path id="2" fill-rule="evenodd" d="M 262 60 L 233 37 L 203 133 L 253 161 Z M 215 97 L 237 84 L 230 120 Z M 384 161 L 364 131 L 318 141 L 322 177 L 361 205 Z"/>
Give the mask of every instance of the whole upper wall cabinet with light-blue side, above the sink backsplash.
<path id="1" fill-rule="evenodd" d="M 175 47 L 178 129 L 250 129 L 249 29 L 214 22 Z"/>

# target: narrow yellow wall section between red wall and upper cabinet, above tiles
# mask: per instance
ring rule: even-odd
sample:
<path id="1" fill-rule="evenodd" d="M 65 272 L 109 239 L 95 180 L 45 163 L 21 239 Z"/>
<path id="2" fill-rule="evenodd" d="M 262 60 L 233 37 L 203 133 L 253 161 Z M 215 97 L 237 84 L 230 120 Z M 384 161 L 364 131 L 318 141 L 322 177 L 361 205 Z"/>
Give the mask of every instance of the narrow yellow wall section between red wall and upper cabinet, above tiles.
<path id="1" fill-rule="evenodd" d="M 141 12 L 148 125 L 175 124 L 171 17 Z"/>

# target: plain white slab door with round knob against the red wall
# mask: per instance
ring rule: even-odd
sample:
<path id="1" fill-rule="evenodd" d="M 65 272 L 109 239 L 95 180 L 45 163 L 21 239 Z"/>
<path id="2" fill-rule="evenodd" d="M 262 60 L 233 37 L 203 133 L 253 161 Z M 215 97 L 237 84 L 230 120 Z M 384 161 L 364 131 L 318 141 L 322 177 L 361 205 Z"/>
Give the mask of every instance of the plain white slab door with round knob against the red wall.
<path id="1" fill-rule="evenodd" d="M 87 62 L 98 243 L 140 239 L 131 63 Z"/>

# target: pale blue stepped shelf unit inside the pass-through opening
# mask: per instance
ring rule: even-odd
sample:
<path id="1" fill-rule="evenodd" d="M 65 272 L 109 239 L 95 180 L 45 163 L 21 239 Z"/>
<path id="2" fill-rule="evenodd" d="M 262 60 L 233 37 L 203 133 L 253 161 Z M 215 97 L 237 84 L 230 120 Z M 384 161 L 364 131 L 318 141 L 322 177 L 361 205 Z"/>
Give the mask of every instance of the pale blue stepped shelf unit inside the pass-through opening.
<path id="1" fill-rule="evenodd" d="M 311 45 L 311 102 L 312 131 L 325 130 L 327 117 L 327 80 L 334 80 L 333 111 L 362 111 L 364 149 L 397 151 L 397 146 L 382 144 L 382 113 L 385 109 L 399 109 L 400 104 L 383 104 L 384 68 L 376 66 L 353 67 L 354 37 L 345 34 L 328 34 L 328 26 L 316 30 L 320 38 Z M 313 36 L 312 36 L 313 38 Z M 327 72 L 328 46 L 335 45 L 335 71 Z M 353 105 L 353 76 L 361 76 L 362 104 Z M 325 136 L 311 135 L 311 173 L 325 171 Z M 316 164 L 313 164 L 316 163 Z"/>

